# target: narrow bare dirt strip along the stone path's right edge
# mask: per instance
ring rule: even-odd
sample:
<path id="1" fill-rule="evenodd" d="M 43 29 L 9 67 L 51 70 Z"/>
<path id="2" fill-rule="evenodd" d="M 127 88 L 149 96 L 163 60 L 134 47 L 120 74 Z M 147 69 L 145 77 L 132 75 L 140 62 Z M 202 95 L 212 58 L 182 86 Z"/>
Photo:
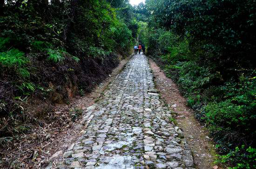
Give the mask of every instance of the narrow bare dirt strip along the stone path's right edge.
<path id="1" fill-rule="evenodd" d="M 149 59 L 149 63 L 154 73 L 156 88 L 160 91 L 162 99 L 173 110 L 176 123 L 183 129 L 196 167 L 212 169 L 215 166 L 214 143 L 211 142 L 206 129 L 195 119 L 193 110 L 187 106 L 186 99 L 179 93 L 177 85 L 165 76 L 152 59 Z"/>

